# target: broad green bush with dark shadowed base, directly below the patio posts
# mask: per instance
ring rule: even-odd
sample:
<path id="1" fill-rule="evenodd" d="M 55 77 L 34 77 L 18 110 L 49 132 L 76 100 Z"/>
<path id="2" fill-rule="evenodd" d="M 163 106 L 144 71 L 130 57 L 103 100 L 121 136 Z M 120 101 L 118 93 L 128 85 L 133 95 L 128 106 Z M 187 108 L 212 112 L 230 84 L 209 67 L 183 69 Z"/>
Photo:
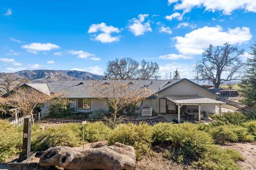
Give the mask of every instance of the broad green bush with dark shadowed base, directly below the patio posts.
<path id="1" fill-rule="evenodd" d="M 209 134 L 190 123 L 159 123 L 153 127 L 153 143 L 168 144 L 172 158 L 179 162 L 198 160 L 213 140 Z"/>

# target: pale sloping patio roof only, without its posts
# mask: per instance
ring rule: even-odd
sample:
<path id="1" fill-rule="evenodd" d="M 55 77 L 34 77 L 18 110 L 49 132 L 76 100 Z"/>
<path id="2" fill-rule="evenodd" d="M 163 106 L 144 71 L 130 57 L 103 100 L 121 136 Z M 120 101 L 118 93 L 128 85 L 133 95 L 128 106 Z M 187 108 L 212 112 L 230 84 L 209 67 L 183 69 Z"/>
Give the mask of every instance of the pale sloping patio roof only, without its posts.
<path id="1" fill-rule="evenodd" d="M 169 95 L 165 96 L 166 99 L 174 102 L 175 104 L 187 104 L 187 105 L 207 105 L 207 104 L 226 104 L 224 102 L 218 101 L 218 100 L 213 100 L 209 98 L 204 98 L 202 96 L 174 96 L 174 95 Z"/>

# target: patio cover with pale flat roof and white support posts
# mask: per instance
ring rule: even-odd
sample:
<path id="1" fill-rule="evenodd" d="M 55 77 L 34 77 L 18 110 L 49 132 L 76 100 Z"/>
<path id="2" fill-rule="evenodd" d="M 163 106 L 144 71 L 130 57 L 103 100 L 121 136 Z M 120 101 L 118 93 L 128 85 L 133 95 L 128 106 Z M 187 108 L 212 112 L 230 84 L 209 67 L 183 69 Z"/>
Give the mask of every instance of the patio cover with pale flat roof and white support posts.
<path id="1" fill-rule="evenodd" d="M 202 96 L 165 96 L 167 100 L 172 101 L 178 106 L 178 123 L 180 123 L 180 108 L 182 106 L 198 106 L 198 119 L 201 123 L 201 106 L 219 106 L 219 113 L 221 114 L 221 105 L 224 102 L 205 98 Z"/>

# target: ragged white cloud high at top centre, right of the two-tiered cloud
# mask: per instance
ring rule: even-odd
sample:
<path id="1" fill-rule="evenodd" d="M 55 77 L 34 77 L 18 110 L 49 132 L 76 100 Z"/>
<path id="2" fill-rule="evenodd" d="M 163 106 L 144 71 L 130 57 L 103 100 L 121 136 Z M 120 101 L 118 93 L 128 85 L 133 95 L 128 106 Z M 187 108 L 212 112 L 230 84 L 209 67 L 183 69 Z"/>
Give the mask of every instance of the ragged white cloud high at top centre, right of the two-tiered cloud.
<path id="1" fill-rule="evenodd" d="M 148 14 L 139 14 L 138 19 L 133 18 L 130 20 L 128 28 L 135 36 L 143 35 L 146 32 L 152 31 L 152 28 L 150 27 L 150 20 L 144 23 L 146 17 L 148 17 Z"/>

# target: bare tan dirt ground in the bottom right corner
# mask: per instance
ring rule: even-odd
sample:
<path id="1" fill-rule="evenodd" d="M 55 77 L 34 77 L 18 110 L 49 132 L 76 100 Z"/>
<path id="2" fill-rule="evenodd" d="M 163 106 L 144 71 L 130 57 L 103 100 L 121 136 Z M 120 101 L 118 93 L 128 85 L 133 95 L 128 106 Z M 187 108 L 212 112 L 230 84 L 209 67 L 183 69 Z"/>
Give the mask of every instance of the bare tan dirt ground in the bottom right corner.
<path id="1" fill-rule="evenodd" d="M 256 143 L 231 143 L 223 146 L 238 151 L 244 157 L 244 161 L 238 161 L 238 164 L 245 170 L 256 169 Z"/>

